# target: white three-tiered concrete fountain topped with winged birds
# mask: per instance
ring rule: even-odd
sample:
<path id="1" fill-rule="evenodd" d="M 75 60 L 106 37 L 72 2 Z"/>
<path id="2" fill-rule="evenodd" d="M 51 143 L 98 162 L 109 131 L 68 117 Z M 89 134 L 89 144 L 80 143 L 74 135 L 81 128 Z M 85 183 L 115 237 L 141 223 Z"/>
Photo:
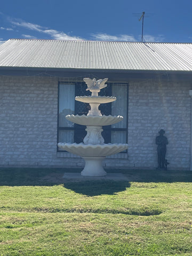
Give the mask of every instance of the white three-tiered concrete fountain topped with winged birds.
<path id="1" fill-rule="evenodd" d="M 105 176 L 106 171 L 102 167 L 102 162 L 106 156 L 119 153 L 127 149 L 128 145 L 123 143 L 104 143 L 101 135 L 102 126 L 118 123 L 123 120 L 123 116 L 101 115 L 98 109 L 102 103 L 109 103 L 116 100 L 116 97 L 98 96 L 98 92 L 107 85 L 108 78 L 99 79 L 84 78 L 87 89 L 92 92 L 91 96 L 75 97 L 75 100 L 89 103 L 91 109 L 87 115 L 67 115 L 66 118 L 76 124 L 86 125 L 86 136 L 84 143 L 58 143 L 58 147 L 70 153 L 81 156 L 85 160 L 85 167 L 81 172 L 83 176 Z"/>

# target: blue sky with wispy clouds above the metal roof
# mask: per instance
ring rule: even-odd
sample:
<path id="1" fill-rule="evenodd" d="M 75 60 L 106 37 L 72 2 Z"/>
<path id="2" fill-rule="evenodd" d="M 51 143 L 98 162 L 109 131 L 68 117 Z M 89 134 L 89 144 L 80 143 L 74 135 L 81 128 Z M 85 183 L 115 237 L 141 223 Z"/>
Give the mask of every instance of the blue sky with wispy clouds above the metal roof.
<path id="1" fill-rule="evenodd" d="M 192 42 L 190 0 L 7 0 L 0 41 L 10 38 Z M 138 13 L 135 15 L 134 13 Z"/>

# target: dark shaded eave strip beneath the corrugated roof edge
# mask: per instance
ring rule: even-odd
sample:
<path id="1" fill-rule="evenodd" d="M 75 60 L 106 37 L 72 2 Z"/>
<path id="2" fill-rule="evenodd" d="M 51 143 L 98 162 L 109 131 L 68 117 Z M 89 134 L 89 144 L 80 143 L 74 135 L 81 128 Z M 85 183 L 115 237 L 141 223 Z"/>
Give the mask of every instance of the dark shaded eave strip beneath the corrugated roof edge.
<path id="1" fill-rule="evenodd" d="M 104 75 L 105 74 L 105 75 Z M 87 77 L 108 76 L 111 81 L 141 80 L 141 79 L 172 79 L 188 80 L 192 70 L 130 70 L 130 69 L 86 69 L 86 68 L 43 68 L 43 67 L 0 67 L 0 75 L 5 76 L 54 76 L 54 77 Z"/>

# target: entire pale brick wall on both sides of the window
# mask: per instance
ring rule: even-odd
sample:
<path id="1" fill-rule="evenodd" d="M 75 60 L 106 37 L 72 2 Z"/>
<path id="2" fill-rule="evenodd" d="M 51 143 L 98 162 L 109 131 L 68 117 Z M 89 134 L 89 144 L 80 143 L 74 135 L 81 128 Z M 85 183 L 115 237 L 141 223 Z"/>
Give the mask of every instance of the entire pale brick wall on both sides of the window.
<path id="1" fill-rule="evenodd" d="M 128 154 L 107 157 L 105 166 L 154 169 L 155 137 L 164 129 L 170 169 L 189 169 L 190 89 L 189 83 L 130 82 Z M 58 78 L 0 77 L 0 166 L 84 165 L 57 153 L 57 98 Z"/>

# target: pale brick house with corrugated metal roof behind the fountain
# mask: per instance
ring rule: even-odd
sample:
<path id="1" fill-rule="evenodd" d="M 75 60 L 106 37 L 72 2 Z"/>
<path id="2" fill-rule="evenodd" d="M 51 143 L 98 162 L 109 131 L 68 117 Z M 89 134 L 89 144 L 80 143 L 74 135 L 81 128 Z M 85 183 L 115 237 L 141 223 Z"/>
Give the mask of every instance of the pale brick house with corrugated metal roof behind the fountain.
<path id="1" fill-rule="evenodd" d="M 106 167 L 155 169 L 155 138 L 164 129 L 169 168 L 192 170 L 192 44 L 44 39 L 0 46 L 0 166 L 84 165 L 57 147 L 85 135 L 65 118 L 89 110 L 74 99 L 87 95 L 84 77 L 108 77 L 100 95 L 117 101 L 101 113 L 124 116 L 103 137 L 129 149 L 107 157 Z"/>

